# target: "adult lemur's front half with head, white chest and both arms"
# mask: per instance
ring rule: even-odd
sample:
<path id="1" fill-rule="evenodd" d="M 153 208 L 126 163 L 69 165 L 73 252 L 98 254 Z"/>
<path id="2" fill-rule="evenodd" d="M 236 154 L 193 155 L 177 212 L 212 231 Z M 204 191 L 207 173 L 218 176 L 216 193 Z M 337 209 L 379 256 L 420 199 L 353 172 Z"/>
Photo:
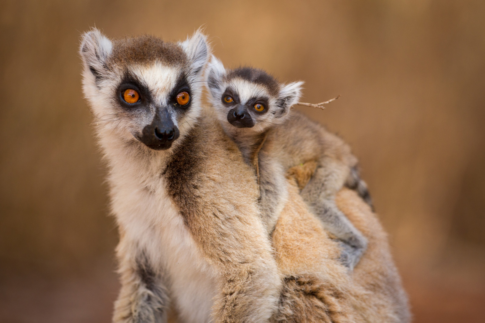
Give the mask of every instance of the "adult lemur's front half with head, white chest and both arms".
<path id="1" fill-rule="evenodd" d="M 254 171 L 201 112 L 210 53 L 182 43 L 82 36 L 82 83 L 97 117 L 120 231 L 114 322 L 268 322 L 281 277 Z"/>

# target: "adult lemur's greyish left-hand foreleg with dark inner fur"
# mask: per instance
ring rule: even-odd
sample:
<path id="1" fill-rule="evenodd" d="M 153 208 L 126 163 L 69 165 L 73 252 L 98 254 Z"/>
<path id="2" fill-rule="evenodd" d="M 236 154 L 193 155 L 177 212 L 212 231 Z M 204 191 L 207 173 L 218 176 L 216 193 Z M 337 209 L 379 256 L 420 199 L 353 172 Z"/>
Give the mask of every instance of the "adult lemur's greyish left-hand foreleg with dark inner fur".
<path id="1" fill-rule="evenodd" d="M 123 235 L 117 247 L 121 290 L 113 323 L 166 323 L 169 304 L 163 274 L 136 243 Z"/>

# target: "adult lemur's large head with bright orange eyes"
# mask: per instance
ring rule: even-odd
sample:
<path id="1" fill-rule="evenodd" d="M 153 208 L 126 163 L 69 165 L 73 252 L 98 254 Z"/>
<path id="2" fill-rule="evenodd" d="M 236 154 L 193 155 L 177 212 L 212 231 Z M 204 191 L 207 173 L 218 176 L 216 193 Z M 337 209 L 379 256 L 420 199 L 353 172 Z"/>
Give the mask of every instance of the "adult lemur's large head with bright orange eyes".
<path id="1" fill-rule="evenodd" d="M 165 150 L 194 124 L 201 109 L 196 82 L 209 59 L 200 31 L 168 43 L 153 36 L 109 40 L 93 29 L 82 35 L 80 54 L 84 94 L 101 134 Z"/>

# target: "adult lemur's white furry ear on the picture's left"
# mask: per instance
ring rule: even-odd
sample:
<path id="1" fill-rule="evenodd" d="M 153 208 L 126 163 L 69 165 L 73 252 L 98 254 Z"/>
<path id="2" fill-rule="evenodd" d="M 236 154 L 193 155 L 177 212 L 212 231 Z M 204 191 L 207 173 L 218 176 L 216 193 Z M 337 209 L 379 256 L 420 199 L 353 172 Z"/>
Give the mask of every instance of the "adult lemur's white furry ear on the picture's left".
<path id="1" fill-rule="evenodd" d="M 106 59 L 113 50 L 113 44 L 99 30 L 93 28 L 81 35 L 79 53 L 82 62 L 93 73 L 96 80 L 102 77 L 106 69 Z"/>

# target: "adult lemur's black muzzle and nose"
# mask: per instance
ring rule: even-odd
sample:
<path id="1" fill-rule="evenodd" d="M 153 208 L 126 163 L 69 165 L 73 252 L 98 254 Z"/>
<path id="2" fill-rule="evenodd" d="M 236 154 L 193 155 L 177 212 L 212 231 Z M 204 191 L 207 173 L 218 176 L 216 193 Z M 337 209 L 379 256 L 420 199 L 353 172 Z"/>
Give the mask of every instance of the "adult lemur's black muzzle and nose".
<path id="1" fill-rule="evenodd" d="M 172 146 L 172 142 L 178 138 L 179 134 L 167 108 L 158 108 L 152 123 L 143 128 L 140 141 L 151 149 L 165 150 Z"/>

